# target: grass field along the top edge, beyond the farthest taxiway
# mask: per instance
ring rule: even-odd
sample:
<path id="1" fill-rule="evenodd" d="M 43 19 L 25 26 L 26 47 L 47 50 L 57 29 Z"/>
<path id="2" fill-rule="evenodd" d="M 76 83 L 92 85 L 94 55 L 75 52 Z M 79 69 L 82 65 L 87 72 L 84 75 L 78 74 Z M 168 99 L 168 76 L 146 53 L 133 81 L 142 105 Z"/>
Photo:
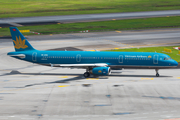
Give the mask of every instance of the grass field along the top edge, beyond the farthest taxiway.
<path id="1" fill-rule="evenodd" d="M 180 0 L 1 0 L 0 18 L 178 9 Z"/>

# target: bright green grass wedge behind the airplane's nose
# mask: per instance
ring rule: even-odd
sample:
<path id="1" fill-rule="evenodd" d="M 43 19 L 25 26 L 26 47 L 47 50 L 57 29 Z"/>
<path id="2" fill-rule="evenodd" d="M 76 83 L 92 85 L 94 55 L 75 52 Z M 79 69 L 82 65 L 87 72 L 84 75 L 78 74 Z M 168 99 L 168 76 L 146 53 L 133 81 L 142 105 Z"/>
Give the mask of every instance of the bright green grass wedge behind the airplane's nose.
<path id="1" fill-rule="evenodd" d="M 177 46 L 159 46 L 159 47 L 146 47 L 146 48 L 128 48 L 128 49 L 117 49 L 117 50 L 107 50 L 112 52 L 157 52 L 169 55 L 172 59 L 180 62 L 179 50 L 173 49 Z M 164 52 L 164 48 L 171 49 L 172 53 Z"/>

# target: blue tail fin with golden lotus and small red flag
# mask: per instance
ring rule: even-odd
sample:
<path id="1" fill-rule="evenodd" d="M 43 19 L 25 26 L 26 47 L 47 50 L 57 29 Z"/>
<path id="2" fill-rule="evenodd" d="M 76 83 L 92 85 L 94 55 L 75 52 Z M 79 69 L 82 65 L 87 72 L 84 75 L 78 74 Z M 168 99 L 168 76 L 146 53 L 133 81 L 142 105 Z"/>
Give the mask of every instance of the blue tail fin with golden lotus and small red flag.
<path id="1" fill-rule="evenodd" d="M 10 27 L 9 29 L 16 51 L 35 50 L 16 27 Z"/>

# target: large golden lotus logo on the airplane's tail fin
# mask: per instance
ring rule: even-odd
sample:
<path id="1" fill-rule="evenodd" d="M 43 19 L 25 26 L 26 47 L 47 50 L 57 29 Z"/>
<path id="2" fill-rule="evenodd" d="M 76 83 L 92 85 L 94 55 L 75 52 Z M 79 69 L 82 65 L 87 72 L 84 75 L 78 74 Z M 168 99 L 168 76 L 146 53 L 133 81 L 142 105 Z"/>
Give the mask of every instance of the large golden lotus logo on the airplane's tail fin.
<path id="1" fill-rule="evenodd" d="M 27 45 L 25 45 L 25 41 L 26 40 L 21 40 L 21 37 L 19 36 L 19 39 L 17 38 L 17 36 L 16 36 L 16 41 L 15 40 L 13 40 L 13 42 L 14 42 L 14 44 L 15 44 L 15 48 L 16 49 L 20 49 L 20 48 L 23 48 L 23 49 L 25 49 L 25 48 L 27 48 L 28 46 Z"/>

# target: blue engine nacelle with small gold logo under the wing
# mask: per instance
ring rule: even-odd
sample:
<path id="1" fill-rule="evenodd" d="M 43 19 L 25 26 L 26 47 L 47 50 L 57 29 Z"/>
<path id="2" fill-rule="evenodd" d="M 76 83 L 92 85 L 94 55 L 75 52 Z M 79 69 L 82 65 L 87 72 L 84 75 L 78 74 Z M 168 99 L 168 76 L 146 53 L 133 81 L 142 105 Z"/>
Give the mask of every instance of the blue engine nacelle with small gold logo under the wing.
<path id="1" fill-rule="evenodd" d="M 110 67 L 95 67 L 92 69 L 92 73 L 95 75 L 110 75 L 111 68 Z"/>

